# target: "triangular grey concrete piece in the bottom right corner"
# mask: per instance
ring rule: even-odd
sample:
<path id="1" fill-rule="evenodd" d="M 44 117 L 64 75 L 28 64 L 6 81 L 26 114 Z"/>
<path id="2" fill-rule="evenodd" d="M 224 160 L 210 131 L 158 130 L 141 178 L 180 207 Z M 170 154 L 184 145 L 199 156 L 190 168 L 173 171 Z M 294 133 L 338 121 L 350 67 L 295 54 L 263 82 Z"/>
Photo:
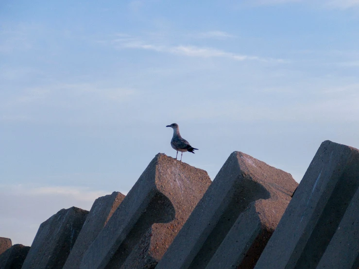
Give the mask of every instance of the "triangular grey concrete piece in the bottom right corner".
<path id="1" fill-rule="evenodd" d="M 324 268 L 359 268 L 359 189 L 317 266 Z"/>

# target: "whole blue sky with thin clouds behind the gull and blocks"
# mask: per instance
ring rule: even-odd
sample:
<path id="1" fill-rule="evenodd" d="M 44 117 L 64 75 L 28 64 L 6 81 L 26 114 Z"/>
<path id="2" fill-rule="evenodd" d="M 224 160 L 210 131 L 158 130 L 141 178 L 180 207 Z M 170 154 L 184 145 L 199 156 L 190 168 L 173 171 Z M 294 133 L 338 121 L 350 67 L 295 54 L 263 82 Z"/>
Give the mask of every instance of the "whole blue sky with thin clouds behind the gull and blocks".
<path id="1" fill-rule="evenodd" d="M 0 236 L 127 193 L 176 122 L 213 179 L 359 148 L 359 0 L 0 2 Z"/>

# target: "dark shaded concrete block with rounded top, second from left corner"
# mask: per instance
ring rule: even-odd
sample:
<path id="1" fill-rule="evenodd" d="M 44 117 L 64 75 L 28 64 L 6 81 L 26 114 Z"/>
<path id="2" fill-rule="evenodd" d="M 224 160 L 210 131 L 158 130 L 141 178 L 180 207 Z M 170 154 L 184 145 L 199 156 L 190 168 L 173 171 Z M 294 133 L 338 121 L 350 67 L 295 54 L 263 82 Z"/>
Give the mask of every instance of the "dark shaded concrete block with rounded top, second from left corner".
<path id="1" fill-rule="evenodd" d="M 22 269 L 62 269 L 87 214 L 73 206 L 41 223 Z"/>

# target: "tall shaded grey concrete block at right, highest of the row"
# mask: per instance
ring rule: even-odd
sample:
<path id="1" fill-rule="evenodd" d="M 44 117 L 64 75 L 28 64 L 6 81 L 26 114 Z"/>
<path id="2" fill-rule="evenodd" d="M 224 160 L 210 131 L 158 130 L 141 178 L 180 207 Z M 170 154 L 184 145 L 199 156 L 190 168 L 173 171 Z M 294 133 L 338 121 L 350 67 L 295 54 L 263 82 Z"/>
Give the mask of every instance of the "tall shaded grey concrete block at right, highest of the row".
<path id="1" fill-rule="evenodd" d="M 322 143 L 256 269 L 316 268 L 359 187 L 359 151 Z"/>

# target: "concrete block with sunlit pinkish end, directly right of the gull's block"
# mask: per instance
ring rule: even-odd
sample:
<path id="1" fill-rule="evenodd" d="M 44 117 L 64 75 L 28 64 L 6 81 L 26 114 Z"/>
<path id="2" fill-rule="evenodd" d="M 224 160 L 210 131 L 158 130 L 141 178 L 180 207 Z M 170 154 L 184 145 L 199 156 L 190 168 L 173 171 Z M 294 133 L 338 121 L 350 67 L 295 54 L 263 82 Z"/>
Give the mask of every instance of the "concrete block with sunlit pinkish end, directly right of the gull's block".
<path id="1" fill-rule="evenodd" d="M 156 269 L 253 268 L 297 185 L 233 152 Z"/>

